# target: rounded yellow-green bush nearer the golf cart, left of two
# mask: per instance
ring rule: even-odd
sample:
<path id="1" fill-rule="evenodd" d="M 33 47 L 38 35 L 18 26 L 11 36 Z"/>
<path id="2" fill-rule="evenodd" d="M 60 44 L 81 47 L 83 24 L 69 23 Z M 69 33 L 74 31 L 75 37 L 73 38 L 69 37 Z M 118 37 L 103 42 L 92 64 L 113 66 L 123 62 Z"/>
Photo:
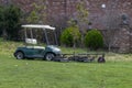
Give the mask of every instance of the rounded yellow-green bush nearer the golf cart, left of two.
<path id="1" fill-rule="evenodd" d="M 69 26 L 61 35 L 61 43 L 66 46 L 76 46 L 80 40 L 80 33 L 77 26 Z"/>

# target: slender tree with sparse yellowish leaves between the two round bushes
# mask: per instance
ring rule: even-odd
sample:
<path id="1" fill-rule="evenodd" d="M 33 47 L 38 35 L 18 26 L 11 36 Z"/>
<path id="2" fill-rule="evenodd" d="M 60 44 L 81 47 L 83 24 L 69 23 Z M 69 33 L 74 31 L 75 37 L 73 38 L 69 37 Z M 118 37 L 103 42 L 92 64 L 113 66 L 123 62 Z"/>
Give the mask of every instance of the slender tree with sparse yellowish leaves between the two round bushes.
<path id="1" fill-rule="evenodd" d="M 77 25 L 81 32 L 81 46 L 84 46 L 82 40 L 84 40 L 84 31 L 87 30 L 88 25 L 88 8 L 87 8 L 87 0 L 79 0 L 79 2 L 76 6 L 76 20 Z"/>

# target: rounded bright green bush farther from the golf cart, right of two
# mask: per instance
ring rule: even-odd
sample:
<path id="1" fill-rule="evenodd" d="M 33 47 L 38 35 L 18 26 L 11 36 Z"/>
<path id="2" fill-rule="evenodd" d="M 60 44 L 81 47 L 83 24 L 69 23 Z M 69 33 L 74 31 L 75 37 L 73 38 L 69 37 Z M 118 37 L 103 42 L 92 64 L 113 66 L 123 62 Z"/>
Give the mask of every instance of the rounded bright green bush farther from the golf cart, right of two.
<path id="1" fill-rule="evenodd" d="M 85 36 L 85 45 L 90 50 L 98 50 L 103 46 L 102 34 L 98 30 L 87 32 Z"/>

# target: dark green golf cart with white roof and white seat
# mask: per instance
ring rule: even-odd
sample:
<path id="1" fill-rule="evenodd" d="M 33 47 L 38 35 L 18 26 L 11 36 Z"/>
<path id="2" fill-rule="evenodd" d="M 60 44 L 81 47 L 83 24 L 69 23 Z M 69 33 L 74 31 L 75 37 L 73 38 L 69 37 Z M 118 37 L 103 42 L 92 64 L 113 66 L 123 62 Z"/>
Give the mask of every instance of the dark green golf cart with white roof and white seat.
<path id="1" fill-rule="evenodd" d="M 36 24 L 25 24 L 22 25 L 25 31 L 25 46 L 18 47 L 14 52 L 14 57 L 16 59 L 24 59 L 24 58 L 43 58 L 45 61 L 52 61 L 55 56 L 61 55 L 61 50 L 54 45 L 36 46 L 37 41 L 33 37 L 32 30 L 42 30 L 45 33 L 46 42 L 48 41 L 46 30 L 55 30 L 50 25 L 36 25 Z M 28 38 L 26 30 L 30 29 L 31 31 L 31 38 Z M 28 45 L 32 44 L 32 45 Z"/>

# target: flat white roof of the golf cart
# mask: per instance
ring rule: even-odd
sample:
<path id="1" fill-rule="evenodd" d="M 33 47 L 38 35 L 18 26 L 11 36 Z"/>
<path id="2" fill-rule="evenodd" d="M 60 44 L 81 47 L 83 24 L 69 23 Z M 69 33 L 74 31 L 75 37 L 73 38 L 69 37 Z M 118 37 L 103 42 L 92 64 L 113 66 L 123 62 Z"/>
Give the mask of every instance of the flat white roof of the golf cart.
<path id="1" fill-rule="evenodd" d="M 55 28 L 50 26 L 50 25 L 41 25 L 41 24 L 24 24 L 22 28 L 25 29 L 50 29 L 50 30 L 55 30 Z"/>

